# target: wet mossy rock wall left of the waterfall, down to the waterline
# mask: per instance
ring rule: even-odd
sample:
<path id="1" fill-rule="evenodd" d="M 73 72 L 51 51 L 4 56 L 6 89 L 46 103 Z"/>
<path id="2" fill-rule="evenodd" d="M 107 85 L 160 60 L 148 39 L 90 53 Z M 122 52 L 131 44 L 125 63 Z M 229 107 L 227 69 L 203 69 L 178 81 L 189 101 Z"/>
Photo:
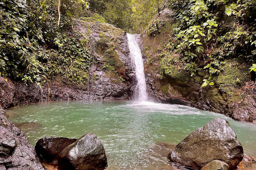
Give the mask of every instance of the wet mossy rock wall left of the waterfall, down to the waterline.
<path id="1" fill-rule="evenodd" d="M 0 105 L 8 109 L 17 105 L 28 105 L 49 101 L 69 100 L 130 100 L 133 91 L 133 62 L 129 57 L 126 33 L 107 23 L 100 23 L 97 32 L 89 32 L 87 26 L 91 23 L 75 20 L 72 32 L 79 32 L 89 39 L 95 37 L 95 64 L 91 65 L 93 72 L 92 86 L 88 82 L 74 84 L 63 77 L 47 80 L 40 89 L 36 83 L 15 81 L 0 76 Z M 93 28 L 91 28 L 93 29 Z M 90 33 L 90 34 L 89 34 Z M 110 62 L 111 61 L 111 62 Z M 110 63 L 109 63 L 110 62 Z M 107 67 L 107 68 L 106 68 Z M 88 73 L 89 74 L 89 73 Z M 49 93 L 50 90 L 50 93 Z M 49 99 L 48 99 L 49 95 Z"/>

